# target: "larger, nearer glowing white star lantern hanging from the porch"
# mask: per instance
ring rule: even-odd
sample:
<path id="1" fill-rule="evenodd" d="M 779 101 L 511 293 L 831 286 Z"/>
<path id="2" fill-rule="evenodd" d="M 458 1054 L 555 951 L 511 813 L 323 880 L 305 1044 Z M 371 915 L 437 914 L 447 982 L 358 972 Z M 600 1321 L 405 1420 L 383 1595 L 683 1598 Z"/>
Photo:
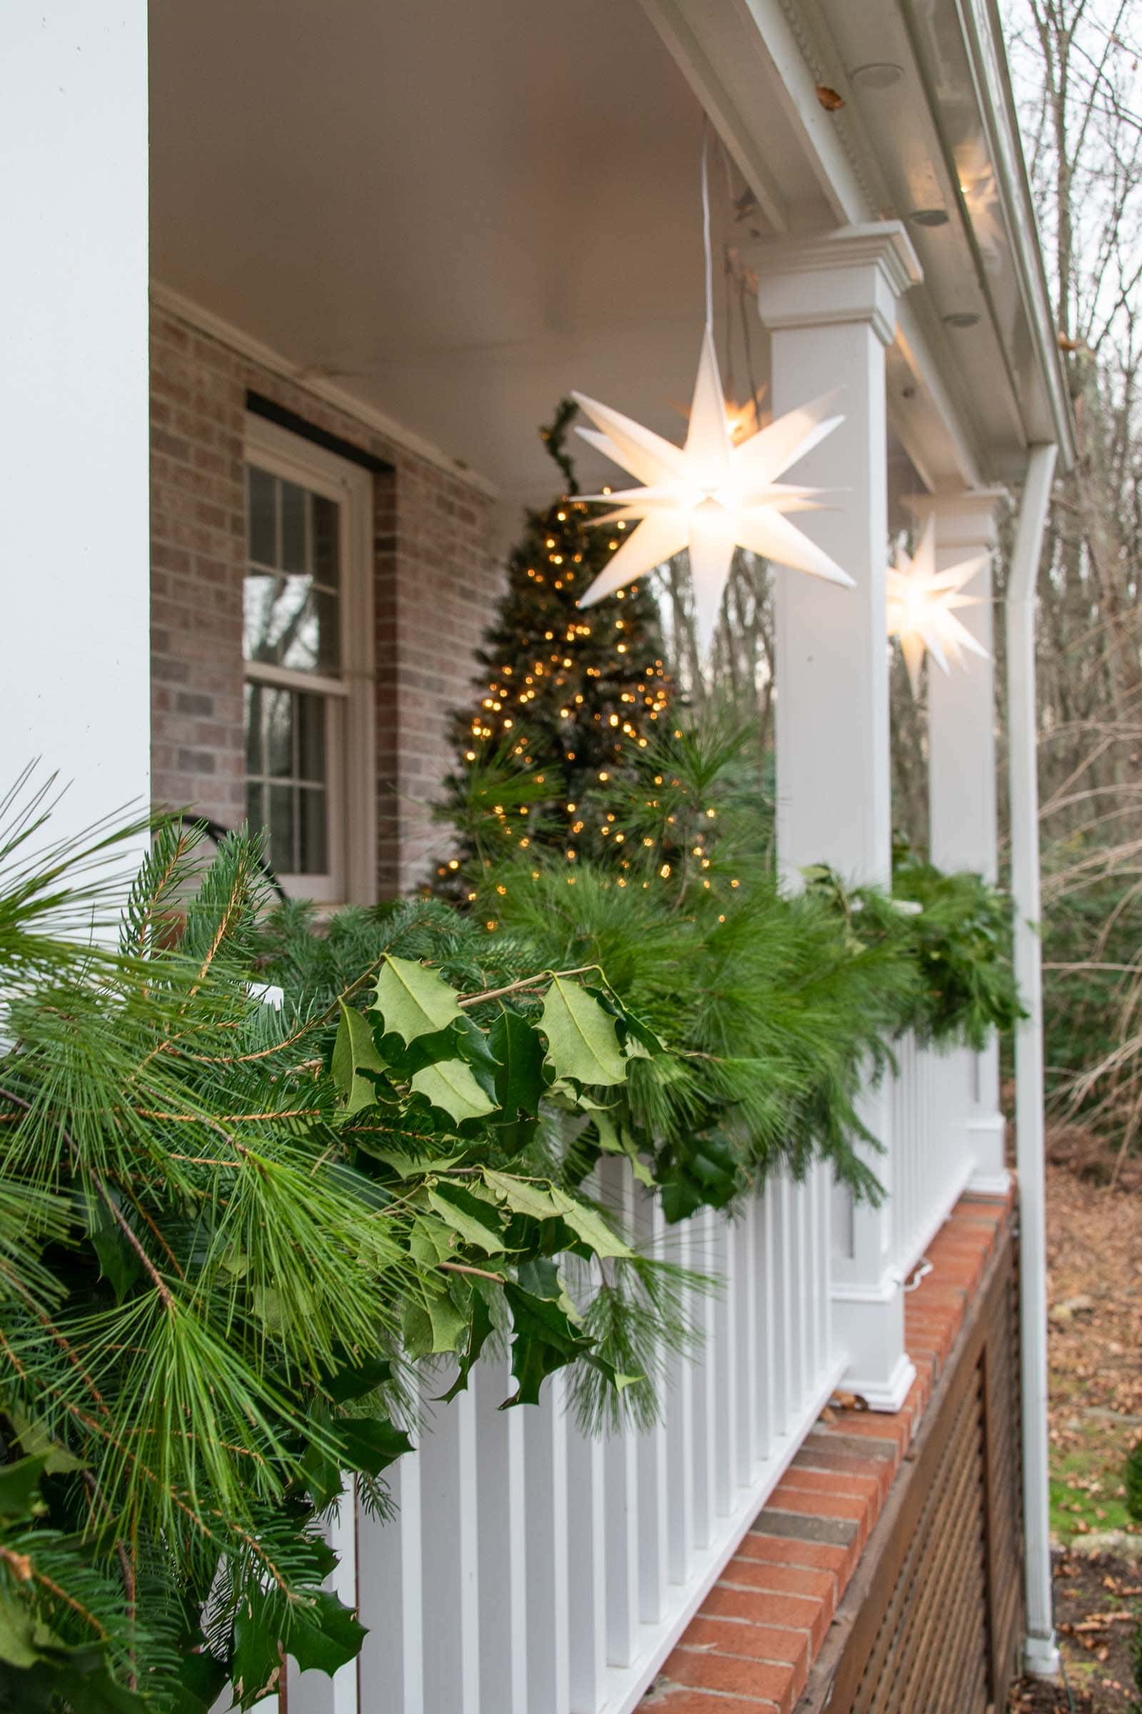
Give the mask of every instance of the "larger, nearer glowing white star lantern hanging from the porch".
<path id="1" fill-rule="evenodd" d="M 580 607 L 592 607 L 604 595 L 613 595 L 688 547 L 699 641 L 705 655 L 738 545 L 853 588 L 848 572 L 786 518 L 786 512 L 810 511 L 820 488 L 777 482 L 789 464 L 842 422 L 841 417 L 829 417 L 830 399 L 788 411 L 735 446 L 714 341 L 707 329 L 685 447 L 663 440 L 651 428 L 582 393 L 575 393 L 575 401 L 596 423 L 594 428 L 579 430 L 584 440 L 645 483 L 611 495 L 586 495 L 620 502 L 599 523 L 620 518 L 642 523 L 594 579 L 580 598 Z"/>

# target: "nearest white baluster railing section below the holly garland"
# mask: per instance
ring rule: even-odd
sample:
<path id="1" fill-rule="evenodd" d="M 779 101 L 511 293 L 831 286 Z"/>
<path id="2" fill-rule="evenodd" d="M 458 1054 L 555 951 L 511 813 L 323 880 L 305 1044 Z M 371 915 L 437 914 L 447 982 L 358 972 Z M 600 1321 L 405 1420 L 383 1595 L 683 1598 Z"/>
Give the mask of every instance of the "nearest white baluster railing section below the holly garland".
<path id="1" fill-rule="evenodd" d="M 697 1296 L 699 1356 L 673 1361 L 664 1421 L 586 1438 L 563 1376 L 498 1411 L 505 1361 L 392 1471 L 397 1515 L 336 1525 L 342 1599 L 370 1635 L 330 1683 L 291 1673 L 289 1714 L 627 1714 L 644 1695 L 837 1385 L 830 1184 L 815 1166 L 738 1219 L 664 1227 L 627 1162 L 604 1162 L 642 1243 L 723 1289 Z M 445 1390 L 447 1368 L 425 1388 Z M 272 1704 L 267 1704 L 267 1709 Z"/>

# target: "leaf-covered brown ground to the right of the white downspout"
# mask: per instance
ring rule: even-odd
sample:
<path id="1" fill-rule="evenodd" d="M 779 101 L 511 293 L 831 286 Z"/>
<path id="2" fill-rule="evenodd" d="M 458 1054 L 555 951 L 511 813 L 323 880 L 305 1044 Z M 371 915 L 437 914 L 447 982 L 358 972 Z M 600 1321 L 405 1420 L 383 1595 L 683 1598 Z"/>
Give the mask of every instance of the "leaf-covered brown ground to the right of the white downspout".
<path id="1" fill-rule="evenodd" d="M 1048 1268 L 1051 1359 L 1051 1529 L 1056 1625 L 1067 1685 L 1024 1681 L 1020 1714 L 1125 1714 L 1133 1685 L 1142 1563 L 1072 1551 L 1094 1532 L 1130 1529 L 1123 1464 L 1142 1438 L 1142 1169 L 1080 1133 L 1051 1140 Z"/>

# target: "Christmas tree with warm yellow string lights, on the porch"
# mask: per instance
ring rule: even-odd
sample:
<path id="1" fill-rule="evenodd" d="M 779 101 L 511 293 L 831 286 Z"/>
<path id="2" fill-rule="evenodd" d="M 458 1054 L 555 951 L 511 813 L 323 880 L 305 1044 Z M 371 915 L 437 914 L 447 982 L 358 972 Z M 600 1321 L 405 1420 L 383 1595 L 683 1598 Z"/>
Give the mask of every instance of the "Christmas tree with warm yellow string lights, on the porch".
<path id="1" fill-rule="evenodd" d="M 625 835 L 594 799 L 632 771 L 666 718 L 657 605 L 633 583 L 587 612 L 575 605 L 623 542 L 618 521 L 592 524 L 598 506 L 579 499 L 567 430 L 575 405 L 563 399 L 543 442 L 565 478 L 546 511 L 527 512 L 509 560 L 495 624 L 478 653 L 486 679 L 474 708 L 457 711 L 440 819 L 457 830 L 457 850 L 440 866 L 437 890 L 461 891 L 473 864 L 512 848 L 560 850 L 565 860 L 599 854 Z M 610 819 L 608 819 L 610 814 Z"/>

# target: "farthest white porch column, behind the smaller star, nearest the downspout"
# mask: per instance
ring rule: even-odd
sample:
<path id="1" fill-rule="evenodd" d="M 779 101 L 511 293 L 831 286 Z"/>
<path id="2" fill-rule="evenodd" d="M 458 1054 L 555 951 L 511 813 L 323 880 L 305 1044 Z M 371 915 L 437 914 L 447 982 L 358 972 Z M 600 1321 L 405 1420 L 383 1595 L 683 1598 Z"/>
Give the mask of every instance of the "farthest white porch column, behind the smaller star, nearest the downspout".
<path id="1" fill-rule="evenodd" d="M 1008 499 L 1005 488 L 962 494 L 921 494 L 906 500 L 918 528 L 928 519 L 937 531 L 937 571 L 966 559 L 986 557 L 986 566 L 966 586 L 979 605 L 957 617 L 988 651 L 988 660 L 964 653 L 943 674 L 928 662 L 928 816 L 931 860 L 940 869 L 971 869 L 984 881 L 996 878 L 995 809 L 995 665 L 991 610 L 991 554 L 996 518 Z M 983 1052 L 954 1049 L 943 1056 L 940 1082 L 947 1095 L 949 1142 L 967 1148 L 972 1160 L 967 1188 L 979 1195 L 1007 1195 L 1003 1159 L 1005 1121 L 1000 1111 L 1000 1046 Z"/>

